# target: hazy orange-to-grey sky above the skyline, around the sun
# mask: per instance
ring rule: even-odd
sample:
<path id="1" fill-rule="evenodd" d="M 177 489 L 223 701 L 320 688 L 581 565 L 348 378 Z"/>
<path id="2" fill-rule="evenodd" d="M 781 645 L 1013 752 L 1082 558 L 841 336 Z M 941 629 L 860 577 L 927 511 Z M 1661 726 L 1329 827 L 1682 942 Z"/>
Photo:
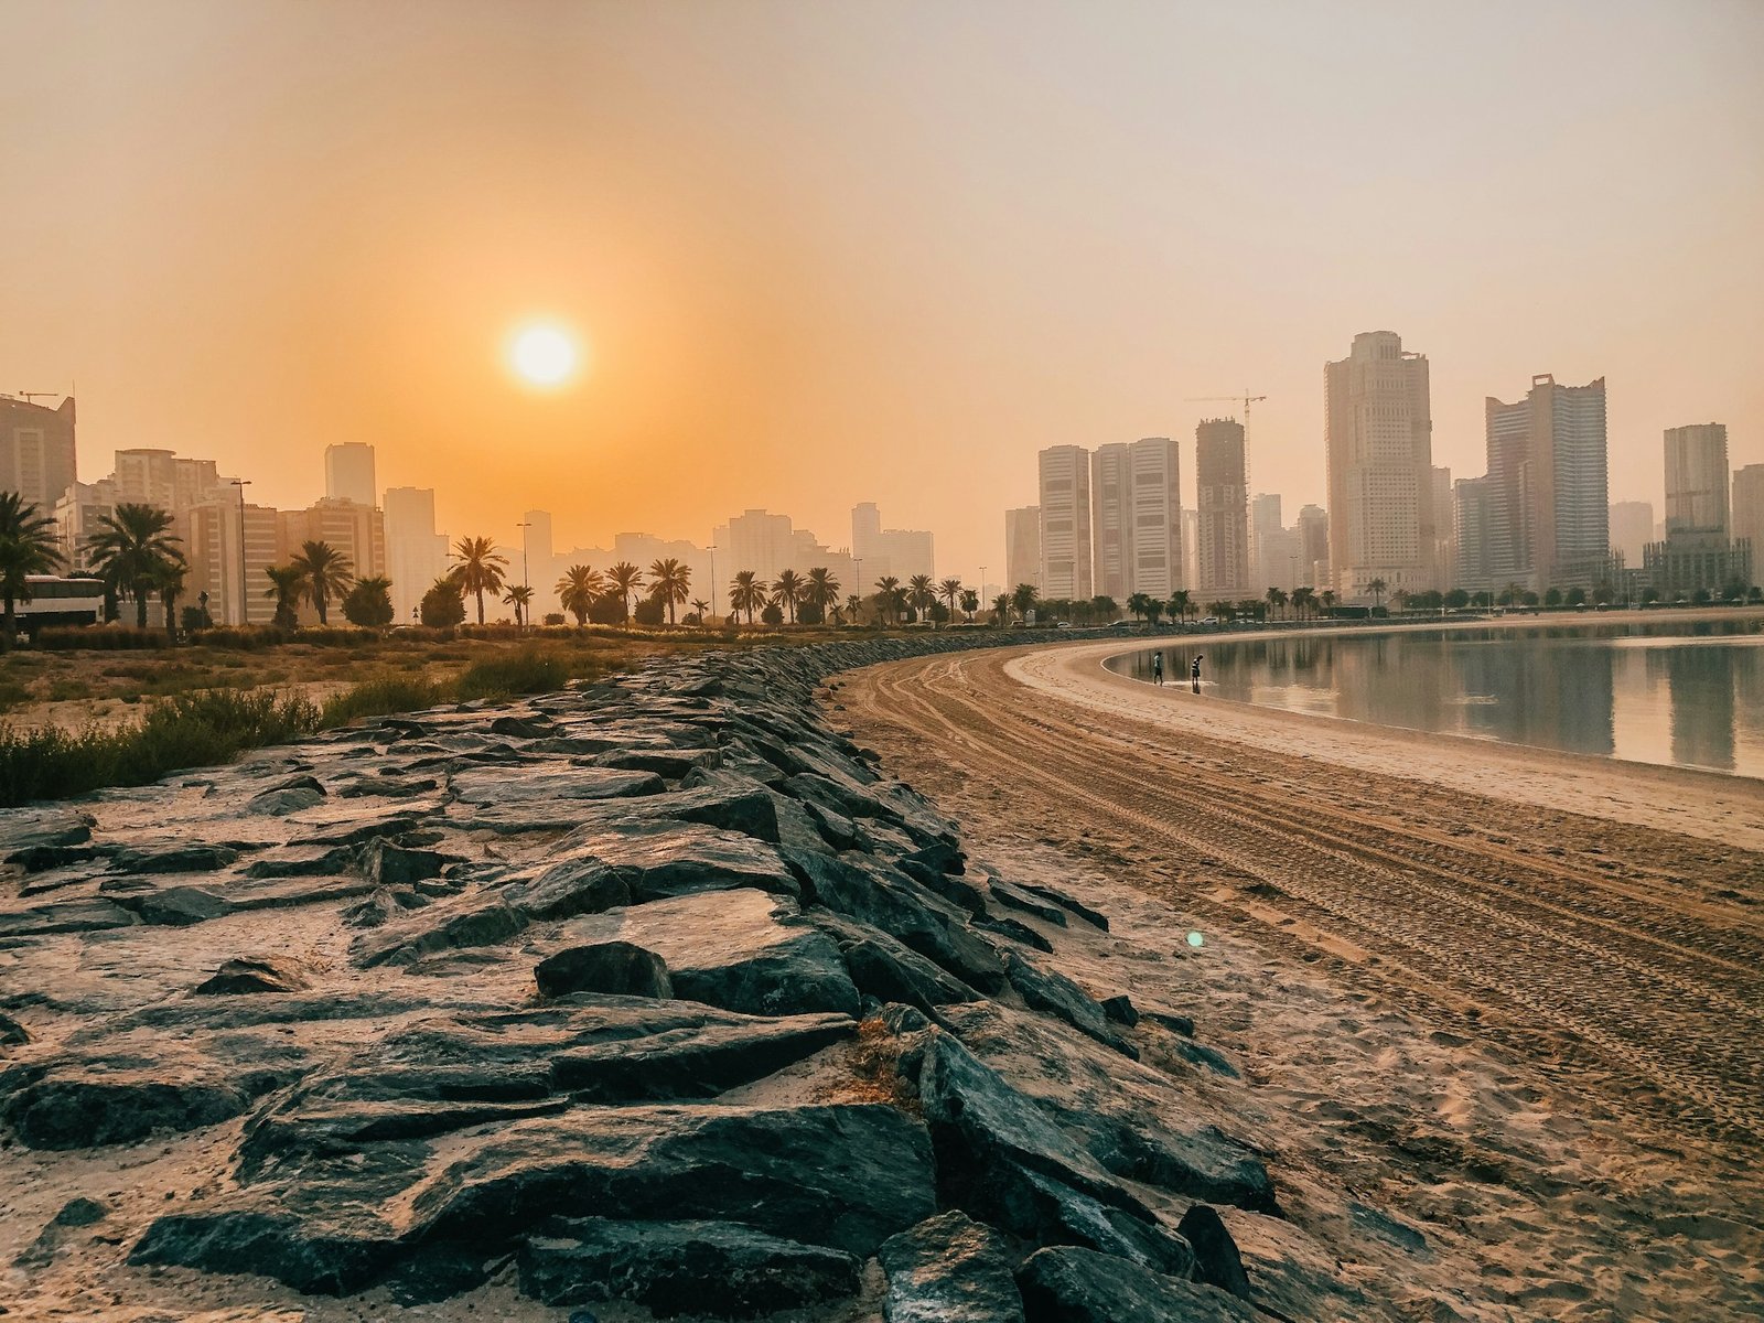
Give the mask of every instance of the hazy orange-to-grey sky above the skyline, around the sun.
<path id="1" fill-rule="evenodd" d="M 1035 450 L 1249 386 L 1323 499 L 1323 362 L 1401 332 L 1434 457 L 1609 381 L 1764 460 L 1764 4 L 0 0 L 0 390 L 79 467 L 210 455 L 284 506 L 370 441 L 443 527 L 706 542 L 848 508 L 1002 568 Z M 503 362 L 549 314 L 572 388 Z"/>

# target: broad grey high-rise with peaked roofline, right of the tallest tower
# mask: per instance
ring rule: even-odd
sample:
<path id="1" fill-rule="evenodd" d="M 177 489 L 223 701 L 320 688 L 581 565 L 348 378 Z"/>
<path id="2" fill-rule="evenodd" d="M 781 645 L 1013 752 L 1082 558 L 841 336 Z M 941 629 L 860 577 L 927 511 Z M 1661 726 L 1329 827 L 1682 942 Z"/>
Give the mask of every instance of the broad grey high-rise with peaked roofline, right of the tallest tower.
<path id="1" fill-rule="evenodd" d="M 1545 372 L 1522 400 L 1484 400 L 1484 416 L 1491 579 L 1595 586 L 1611 556 L 1605 379 L 1558 386 Z"/>

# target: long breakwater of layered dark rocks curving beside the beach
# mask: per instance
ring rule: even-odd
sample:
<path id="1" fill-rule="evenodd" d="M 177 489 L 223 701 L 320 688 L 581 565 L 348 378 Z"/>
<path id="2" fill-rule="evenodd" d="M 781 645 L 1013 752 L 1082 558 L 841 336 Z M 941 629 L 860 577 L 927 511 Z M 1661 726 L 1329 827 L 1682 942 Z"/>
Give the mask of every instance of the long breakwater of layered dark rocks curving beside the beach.
<path id="1" fill-rule="evenodd" d="M 967 642 L 672 658 L 7 815 L 0 1125 L 104 1198 L 90 1281 L 1291 1312 L 1215 1212 L 1281 1215 L 1191 1027 L 1060 968 L 1106 916 L 968 859 L 815 704 Z"/>

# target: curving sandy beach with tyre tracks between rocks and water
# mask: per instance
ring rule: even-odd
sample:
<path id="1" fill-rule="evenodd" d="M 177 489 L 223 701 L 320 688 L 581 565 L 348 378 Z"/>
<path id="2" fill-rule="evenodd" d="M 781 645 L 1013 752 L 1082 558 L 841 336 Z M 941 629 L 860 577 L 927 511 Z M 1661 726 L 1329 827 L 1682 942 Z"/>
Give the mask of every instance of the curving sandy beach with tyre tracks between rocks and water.
<path id="1" fill-rule="evenodd" d="M 1413 1316 L 1757 1318 L 1764 783 L 1102 669 L 1140 644 L 875 667 L 836 716 L 979 854 L 1200 935 L 1136 988 L 1224 1016 L 1282 1166 L 1416 1219 L 1473 1304 Z"/>

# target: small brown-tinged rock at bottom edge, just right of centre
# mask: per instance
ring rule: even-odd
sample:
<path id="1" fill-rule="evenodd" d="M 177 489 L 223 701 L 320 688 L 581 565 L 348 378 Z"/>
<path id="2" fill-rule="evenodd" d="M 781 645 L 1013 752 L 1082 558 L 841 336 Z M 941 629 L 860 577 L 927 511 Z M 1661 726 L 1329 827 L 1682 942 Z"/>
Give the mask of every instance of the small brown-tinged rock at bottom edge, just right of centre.
<path id="1" fill-rule="evenodd" d="M 889 1237 L 877 1258 L 887 1274 L 887 1323 L 1023 1323 L 1004 1237 L 963 1212 Z"/>

